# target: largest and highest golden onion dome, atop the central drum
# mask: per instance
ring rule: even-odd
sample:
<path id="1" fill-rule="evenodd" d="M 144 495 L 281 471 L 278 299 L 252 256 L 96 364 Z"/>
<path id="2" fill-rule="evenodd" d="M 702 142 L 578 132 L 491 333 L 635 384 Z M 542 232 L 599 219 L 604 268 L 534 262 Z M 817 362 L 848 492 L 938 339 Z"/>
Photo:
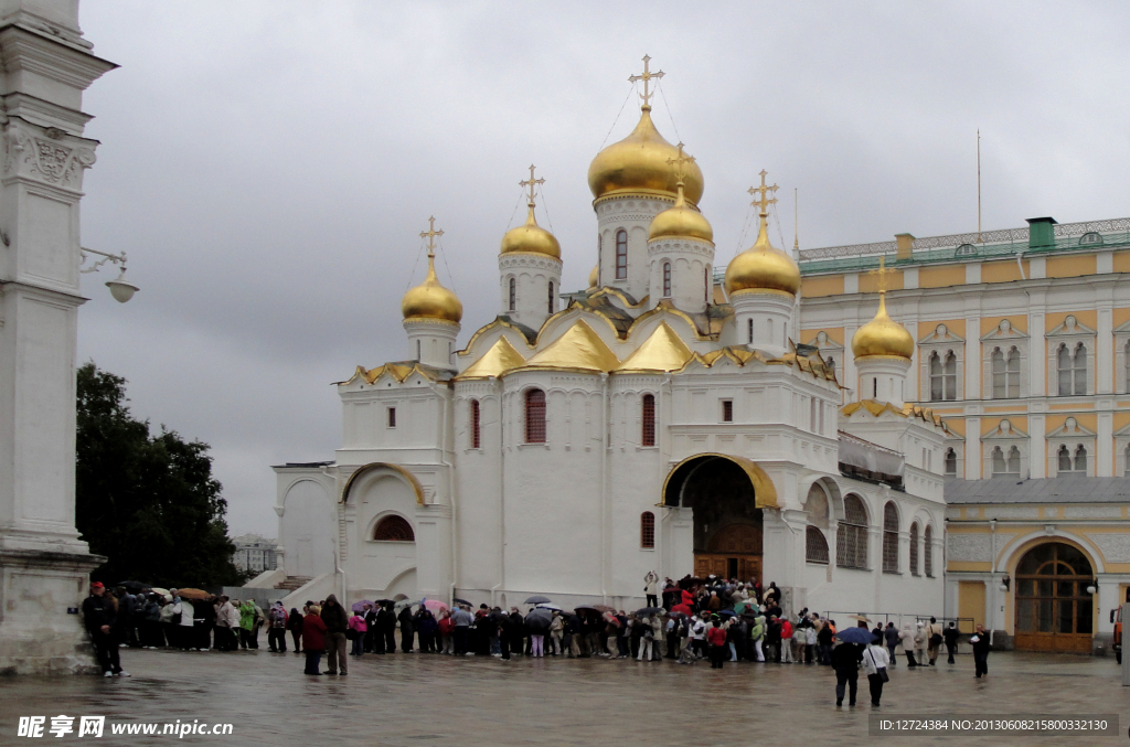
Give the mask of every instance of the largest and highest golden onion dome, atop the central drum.
<path id="1" fill-rule="evenodd" d="M 675 197 L 678 179 L 670 162 L 681 157 L 678 148 L 663 139 L 651 121 L 651 106 L 632 134 L 597 154 L 589 165 L 589 189 L 597 199 L 621 192 L 658 192 Z M 703 173 L 690 163 L 686 173 L 686 199 L 698 205 L 703 196 Z"/>

